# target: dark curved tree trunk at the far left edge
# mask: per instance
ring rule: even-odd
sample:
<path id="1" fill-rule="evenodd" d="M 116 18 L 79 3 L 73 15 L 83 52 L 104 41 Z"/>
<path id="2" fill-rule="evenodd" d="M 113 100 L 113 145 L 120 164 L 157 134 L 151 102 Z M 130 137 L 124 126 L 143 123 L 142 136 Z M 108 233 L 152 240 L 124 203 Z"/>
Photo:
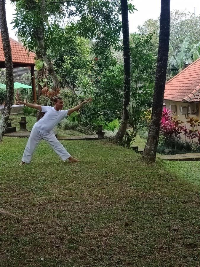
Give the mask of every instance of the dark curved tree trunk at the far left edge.
<path id="1" fill-rule="evenodd" d="M 1 39 L 3 44 L 4 57 L 5 57 L 5 66 L 6 66 L 6 92 L 7 92 L 5 106 L 0 120 L 0 141 L 2 141 L 9 120 L 10 111 L 13 104 L 13 95 L 14 95 L 12 52 L 10 46 L 9 33 L 8 33 L 8 26 L 6 21 L 5 0 L 0 0 L 0 29 L 1 29 Z"/>

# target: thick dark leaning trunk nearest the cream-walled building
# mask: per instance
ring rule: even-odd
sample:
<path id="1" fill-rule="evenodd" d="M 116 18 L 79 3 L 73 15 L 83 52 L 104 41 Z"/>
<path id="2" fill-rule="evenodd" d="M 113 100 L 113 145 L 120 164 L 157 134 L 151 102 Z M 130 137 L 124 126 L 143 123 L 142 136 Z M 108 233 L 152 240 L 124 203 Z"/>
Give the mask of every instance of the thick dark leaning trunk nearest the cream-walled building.
<path id="1" fill-rule="evenodd" d="M 156 160 L 156 151 L 158 147 L 158 139 L 160 133 L 164 88 L 167 74 L 167 60 L 169 53 L 169 26 L 170 0 L 161 0 L 160 35 L 156 68 L 155 91 L 153 95 L 153 109 L 148 139 L 143 153 L 143 159 L 150 162 L 155 162 Z"/>

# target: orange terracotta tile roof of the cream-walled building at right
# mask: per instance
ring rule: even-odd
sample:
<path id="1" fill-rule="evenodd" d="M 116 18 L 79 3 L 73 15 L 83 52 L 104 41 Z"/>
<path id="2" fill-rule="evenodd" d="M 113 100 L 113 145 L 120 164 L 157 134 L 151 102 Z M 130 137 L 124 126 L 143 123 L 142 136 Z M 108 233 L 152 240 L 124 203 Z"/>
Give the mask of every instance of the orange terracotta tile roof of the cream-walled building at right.
<path id="1" fill-rule="evenodd" d="M 200 58 L 166 83 L 164 99 L 200 102 Z"/>

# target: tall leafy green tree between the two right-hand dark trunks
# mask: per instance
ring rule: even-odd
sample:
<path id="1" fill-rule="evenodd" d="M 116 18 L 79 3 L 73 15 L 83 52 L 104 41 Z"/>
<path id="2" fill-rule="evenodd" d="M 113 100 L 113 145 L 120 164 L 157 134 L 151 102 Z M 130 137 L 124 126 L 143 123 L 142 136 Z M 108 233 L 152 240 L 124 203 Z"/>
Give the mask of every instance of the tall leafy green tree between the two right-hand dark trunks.
<path id="1" fill-rule="evenodd" d="M 152 107 L 156 71 L 156 55 L 152 52 L 155 44 L 152 38 L 153 34 L 130 35 L 131 98 L 127 109 L 133 138 L 137 133 L 137 124 L 141 122 L 147 109 Z"/>

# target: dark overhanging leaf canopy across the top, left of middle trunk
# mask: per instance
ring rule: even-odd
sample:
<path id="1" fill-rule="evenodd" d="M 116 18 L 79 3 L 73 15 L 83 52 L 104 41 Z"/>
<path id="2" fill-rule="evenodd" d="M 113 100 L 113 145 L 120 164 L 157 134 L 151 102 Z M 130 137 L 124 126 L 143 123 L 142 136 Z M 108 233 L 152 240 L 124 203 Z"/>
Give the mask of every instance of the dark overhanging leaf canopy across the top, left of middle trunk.
<path id="1" fill-rule="evenodd" d="M 119 42 L 121 21 L 118 0 L 71 1 L 67 4 L 58 0 L 46 2 L 42 5 L 41 1 L 16 1 L 14 28 L 17 29 L 18 36 L 26 49 L 33 51 L 38 48 L 38 29 L 41 27 L 44 34 L 44 48 L 53 46 L 59 50 L 64 40 L 66 41 L 66 33 L 57 34 L 56 38 L 52 38 L 51 33 L 63 24 L 65 18 L 71 21 L 76 18 L 77 36 L 95 39 L 92 44 L 94 54 L 102 54 L 102 51 Z M 134 10 L 131 3 L 129 9 Z"/>

